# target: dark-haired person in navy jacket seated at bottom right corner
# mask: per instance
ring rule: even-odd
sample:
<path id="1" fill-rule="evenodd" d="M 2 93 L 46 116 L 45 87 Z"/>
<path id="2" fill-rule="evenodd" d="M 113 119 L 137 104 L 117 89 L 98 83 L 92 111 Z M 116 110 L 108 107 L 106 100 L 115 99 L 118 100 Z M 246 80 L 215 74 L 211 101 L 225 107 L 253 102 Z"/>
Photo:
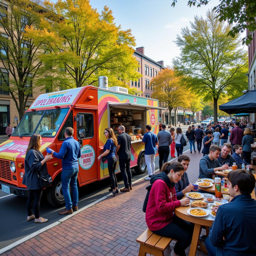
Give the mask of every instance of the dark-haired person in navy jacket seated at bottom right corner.
<path id="1" fill-rule="evenodd" d="M 217 214 L 205 246 L 209 256 L 253 256 L 256 252 L 253 217 L 256 200 L 251 198 L 255 178 L 247 170 L 228 174 L 228 188 L 233 198 L 217 208 Z M 214 208 L 216 211 L 216 208 Z"/>

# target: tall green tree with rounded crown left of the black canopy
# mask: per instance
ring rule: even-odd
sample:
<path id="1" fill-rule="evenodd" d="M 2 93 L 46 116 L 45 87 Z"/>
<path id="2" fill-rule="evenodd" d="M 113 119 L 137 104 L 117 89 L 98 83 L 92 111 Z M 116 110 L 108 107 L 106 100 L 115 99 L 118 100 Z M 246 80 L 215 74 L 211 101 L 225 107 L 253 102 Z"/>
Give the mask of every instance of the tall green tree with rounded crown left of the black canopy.
<path id="1" fill-rule="evenodd" d="M 248 67 L 247 53 L 240 48 L 239 37 L 227 37 L 230 25 L 219 22 L 216 16 L 208 10 L 206 19 L 195 16 L 191 30 L 182 28 L 182 36 L 175 41 L 181 54 L 173 60 L 176 70 L 187 74 L 183 80 L 193 92 L 204 101 L 213 100 L 215 122 L 219 97 L 228 88 L 236 88 L 239 81 L 245 81 L 243 72 Z"/>

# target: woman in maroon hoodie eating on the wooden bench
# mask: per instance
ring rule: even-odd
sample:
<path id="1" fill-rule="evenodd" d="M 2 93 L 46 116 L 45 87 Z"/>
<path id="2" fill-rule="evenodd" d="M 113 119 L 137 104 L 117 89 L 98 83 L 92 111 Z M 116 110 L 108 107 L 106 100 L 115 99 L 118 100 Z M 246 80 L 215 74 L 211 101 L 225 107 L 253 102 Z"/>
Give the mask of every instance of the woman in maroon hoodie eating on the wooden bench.
<path id="1" fill-rule="evenodd" d="M 153 184 L 146 208 L 146 223 L 155 234 L 177 239 L 171 256 L 184 256 L 190 245 L 194 224 L 173 214 L 176 207 L 189 204 L 189 199 L 177 200 L 175 183 L 182 179 L 184 167 L 177 162 L 165 163 L 161 173 L 151 177 Z"/>

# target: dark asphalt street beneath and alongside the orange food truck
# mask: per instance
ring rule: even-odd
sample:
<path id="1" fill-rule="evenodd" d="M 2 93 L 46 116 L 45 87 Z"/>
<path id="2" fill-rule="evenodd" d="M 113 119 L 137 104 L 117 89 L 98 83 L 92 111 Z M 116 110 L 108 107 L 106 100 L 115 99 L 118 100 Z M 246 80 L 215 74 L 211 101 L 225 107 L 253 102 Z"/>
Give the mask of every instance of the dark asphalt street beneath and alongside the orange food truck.
<path id="1" fill-rule="evenodd" d="M 183 130 L 183 133 L 186 133 L 187 127 L 188 125 L 181 127 Z M 188 149 L 189 149 L 189 143 L 187 143 L 187 146 L 184 147 L 183 151 L 186 151 Z M 170 155 L 169 155 L 168 161 L 169 160 L 171 160 Z M 158 157 L 155 158 L 155 165 L 157 170 L 159 168 Z M 135 171 L 132 169 L 132 176 L 133 176 L 132 181 L 134 182 L 135 180 L 140 179 L 146 174 L 147 174 L 147 170 L 144 174 L 137 175 Z M 119 188 L 124 187 L 120 173 L 117 174 L 117 179 L 118 179 L 118 187 Z M 145 181 L 145 183 L 148 183 L 148 181 Z M 94 182 L 80 188 L 78 207 L 82 208 L 104 196 L 107 196 L 110 193 L 108 190 L 109 185 L 110 185 L 110 179 L 106 178 L 104 180 Z M 64 209 L 65 207 L 55 208 L 51 206 L 48 203 L 46 196 L 43 194 L 41 205 L 40 205 L 40 215 L 44 218 L 49 219 L 49 221 L 44 224 L 34 223 L 34 221 L 28 222 L 27 211 L 26 211 L 26 201 L 27 201 L 27 198 L 18 197 L 13 194 L 8 195 L 2 192 L 2 190 L 0 190 L 0 205 L 1 205 L 0 249 L 63 218 L 63 216 L 59 215 L 58 212 L 61 209 Z"/>

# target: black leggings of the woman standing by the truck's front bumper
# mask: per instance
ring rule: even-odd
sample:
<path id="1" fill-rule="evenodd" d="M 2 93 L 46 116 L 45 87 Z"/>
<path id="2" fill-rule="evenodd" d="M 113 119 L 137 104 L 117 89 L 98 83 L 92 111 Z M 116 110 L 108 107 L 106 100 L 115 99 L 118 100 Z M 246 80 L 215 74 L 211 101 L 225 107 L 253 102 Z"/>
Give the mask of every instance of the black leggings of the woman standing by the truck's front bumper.
<path id="1" fill-rule="evenodd" d="M 29 196 L 28 196 L 28 200 L 27 200 L 28 216 L 32 215 L 32 205 L 33 205 L 34 212 L 35 212 L 35 218 L 38 219 L 40 217 L 39 208 L 40 208 L 40 201 L 41 201 L 42 193 L 43 193 L 42 188 L 29 189 Z"/>

